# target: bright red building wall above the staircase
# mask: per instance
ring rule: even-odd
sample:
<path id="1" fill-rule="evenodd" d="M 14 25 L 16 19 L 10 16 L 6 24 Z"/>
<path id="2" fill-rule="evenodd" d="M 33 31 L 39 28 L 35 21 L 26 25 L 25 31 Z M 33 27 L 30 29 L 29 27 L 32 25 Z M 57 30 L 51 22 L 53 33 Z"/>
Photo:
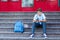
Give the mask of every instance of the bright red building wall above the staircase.
<path id="1" fill-rule="evenodd" d="M 38 8 L 42 8 L 43 11 L 60 11 L 58 6 L 58 0 L 33 0 L 33 3 L 25 0 L 0 0 L 0 12 L 1 11 L 36 11 Z M 28 3 L 27 3 L 28 1 Z M 24 3 L 27 3 L 26 6 Z"/>

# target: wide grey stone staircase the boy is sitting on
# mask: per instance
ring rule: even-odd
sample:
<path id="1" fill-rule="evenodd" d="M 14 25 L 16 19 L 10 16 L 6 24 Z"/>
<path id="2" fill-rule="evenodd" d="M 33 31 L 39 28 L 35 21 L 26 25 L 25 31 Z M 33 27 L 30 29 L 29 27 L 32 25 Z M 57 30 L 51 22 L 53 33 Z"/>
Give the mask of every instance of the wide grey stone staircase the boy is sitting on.
<path id="1" fill-rule="evenodd" d="M 47 17 L 47 35 L 42 37 L 42 28 L 36 29 L 35 37 L 30 39 L 32 19 L 36 12 L 0 12 L 0 40 L 60 40 L 60 12 L 44 12 Z M 28 25 L 24 33 L 15 33 L 14 24 L 22 20 Z"/>

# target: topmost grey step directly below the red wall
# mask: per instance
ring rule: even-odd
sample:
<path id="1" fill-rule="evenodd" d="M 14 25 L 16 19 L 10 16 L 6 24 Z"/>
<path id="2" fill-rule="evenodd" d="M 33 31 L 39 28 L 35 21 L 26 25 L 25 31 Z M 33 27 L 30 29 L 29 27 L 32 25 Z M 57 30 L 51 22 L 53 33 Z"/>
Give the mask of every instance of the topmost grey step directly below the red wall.
<path id="1" fill-rule="evenodd" d="M 60 12 L 43 12 L 43 13 L 47 15 L 60 14 Z M 0 14 L 36 14 L 36 12 L 0 12 Z"/>

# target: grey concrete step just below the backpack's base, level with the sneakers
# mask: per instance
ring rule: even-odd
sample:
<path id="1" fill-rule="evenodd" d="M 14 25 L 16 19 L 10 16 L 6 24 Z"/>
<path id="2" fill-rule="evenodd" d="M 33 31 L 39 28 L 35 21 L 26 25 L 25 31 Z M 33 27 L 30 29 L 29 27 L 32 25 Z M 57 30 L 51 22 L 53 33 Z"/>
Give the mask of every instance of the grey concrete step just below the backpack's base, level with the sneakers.
<path id="1" fill-rule="evenodd" d="M 31 32 L 24 32 L 24 33 L 20 33 L 20 32 L 1 32 L 0 36 L 1 37 L 28 37 L 31 34 Z M 42 36 L 42 32 L 35 32 L 35 36 Z M 8 35 L 8 36 L 7 36 Z M 48 36 L 58 36 L 60 37 L 60 34 L 57 33 L 53 33 L 53 32 L 47 32 Z"/>

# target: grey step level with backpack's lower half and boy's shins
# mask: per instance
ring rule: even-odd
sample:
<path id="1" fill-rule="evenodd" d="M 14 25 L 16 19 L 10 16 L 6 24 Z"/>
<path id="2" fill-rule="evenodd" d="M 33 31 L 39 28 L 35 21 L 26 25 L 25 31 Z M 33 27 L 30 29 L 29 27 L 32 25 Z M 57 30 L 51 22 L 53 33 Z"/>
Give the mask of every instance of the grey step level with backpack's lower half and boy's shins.
<path id="1" fill-rule="evenodd" d="M 25 28 L 24 31 L 25 32 L 31 32 L 31 28 Z M 53 34 L 56 33 L 56 34 L 60 34 L 60 28 L 59 29 L 55 29 L 55 28 L 47 28 L 46 29 L 47 33 L 49 32 L 52 32 Z M 14 32 L 14 28 L 0 28 L 0 32 Z M 35 29 L 35 32 L 43 32 L 43 29 L 42 28 L 36 28 Z"/>

